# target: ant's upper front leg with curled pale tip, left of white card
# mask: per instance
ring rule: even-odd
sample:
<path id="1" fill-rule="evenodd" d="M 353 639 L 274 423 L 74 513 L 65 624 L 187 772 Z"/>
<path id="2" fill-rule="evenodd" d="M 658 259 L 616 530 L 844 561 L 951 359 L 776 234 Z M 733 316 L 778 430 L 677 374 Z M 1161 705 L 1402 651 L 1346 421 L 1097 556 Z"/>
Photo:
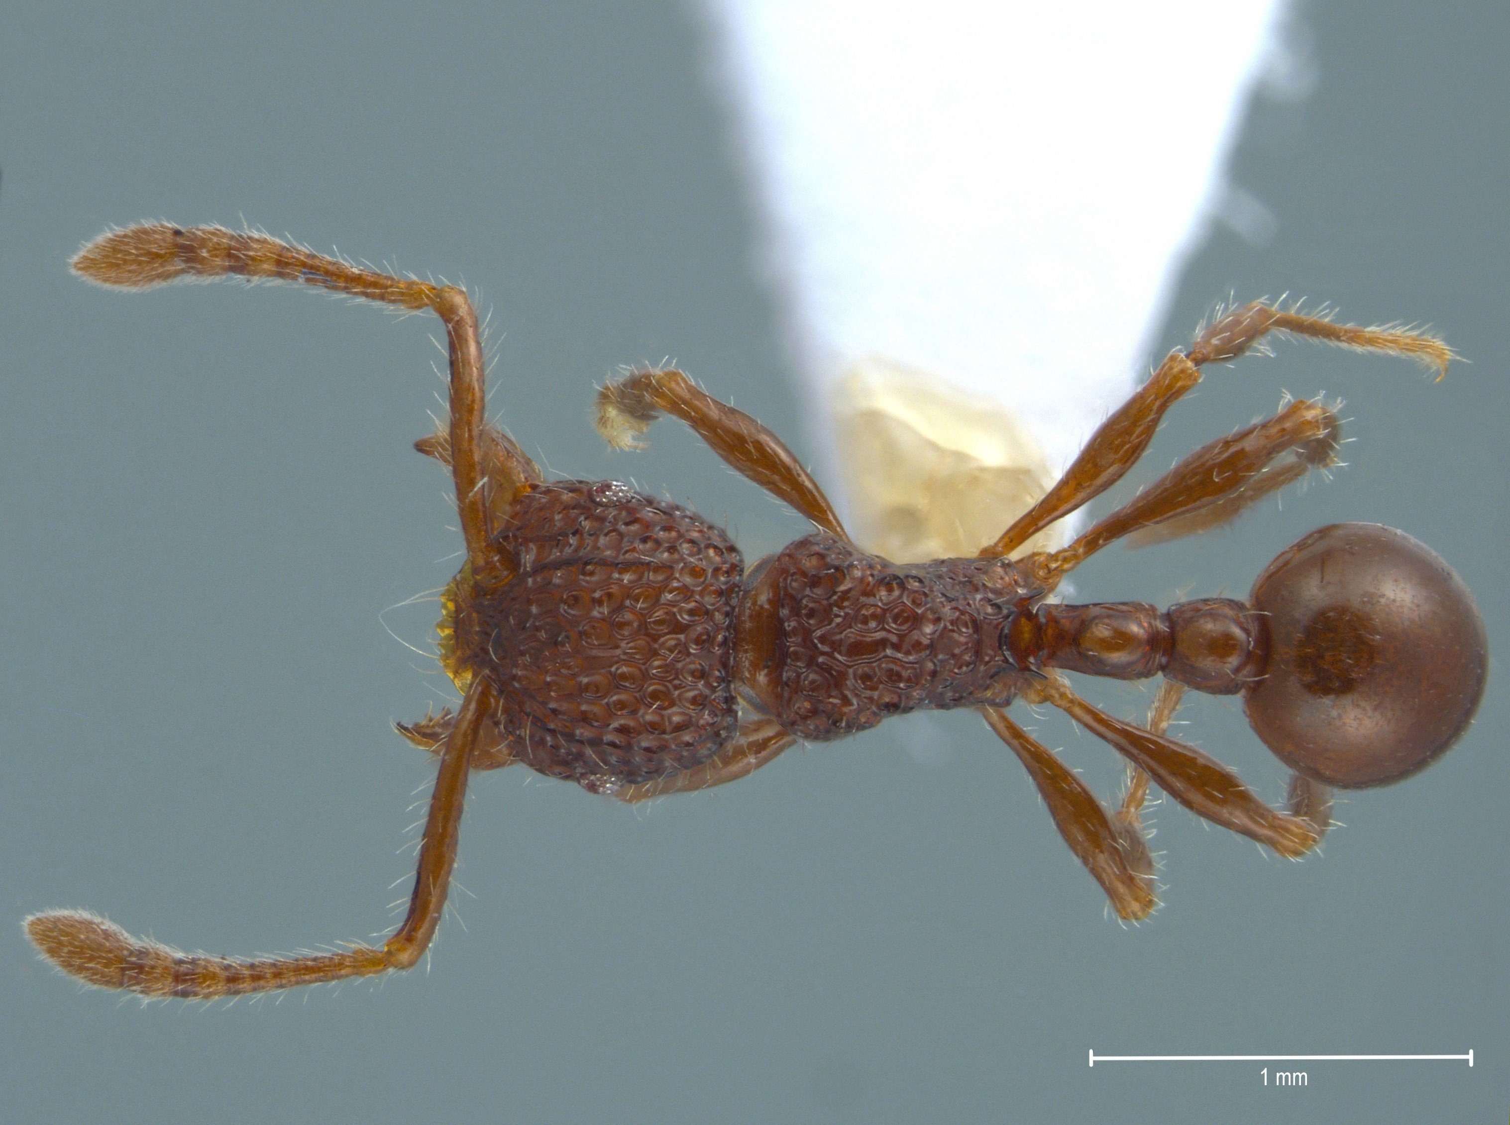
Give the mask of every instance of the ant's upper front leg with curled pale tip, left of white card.
<path id="1" fill-rule="evenodd" d="M 744 411 L 699 390 L 681 371 L 634 371 L 598 391 L 598 433 L 615 448 L 637 448 L 636 435 L 663 412 L 692 426 L 735 471 L 849 542 L 834 504 L 787 444 Z"/>

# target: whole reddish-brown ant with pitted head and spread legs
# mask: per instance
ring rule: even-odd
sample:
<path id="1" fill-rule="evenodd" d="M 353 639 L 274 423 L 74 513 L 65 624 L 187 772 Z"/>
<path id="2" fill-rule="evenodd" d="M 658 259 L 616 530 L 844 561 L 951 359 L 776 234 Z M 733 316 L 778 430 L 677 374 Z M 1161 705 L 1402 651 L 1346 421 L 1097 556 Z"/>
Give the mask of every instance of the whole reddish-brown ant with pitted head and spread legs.
<path id="1" fill-rule="evenodd" d="M 471 770 L 518 761 L 636 802 L 722 785 L 797 740 L 838 738 L 918 708 L 982 711 L 1117 914 L 1143 918 L 1157 905 L 1139 821 L 1149 779 L 1196 814 L 1300 856 L 1329 826 L 1329 787 L 1383 785 L 1424 769 L 1463 732 L 1483 693 L 1487 642 L 1472 596 L 1428 548 L 1373 524 L 1312 532 L 1268 565 L 1247 603 L 1203 598 L 1161 612 L 1048 601 L 1065 574 L 1116 539 L 1220 524 L 1332 464 L 1339 424 L 1320 402 L 1294 402 L 1203 445 L 1068 547 L 1009 559 L 1119 480 L 1202 365 L 1277 331 L 1445 371 L 1451 350 L 1409 329 L 1333 325 L 1264 304 L 1231 311 L 1172 352 L 977 557 L 918 565 L 856 547 L 781 439 L 681 371 L 640 370 L 604 387 L 598 429 L 610 442 L 631 447 L 670 414 L 817 527 L 746 572 L 723 532 L 686 507 L 612 480 L 548 482 L 488 424 L 477 317 L 461 288 L 220 227 L 112 231 L 72 266 L 122 288 L 242 276 L 433 310 L 448 338 L 450 423 L 415 447 L 450 468 L 467 542 L 438 627 L 461 708 L 399 726 L 439 758 L 399 930 L 381 948 L 243 960 L 184 954 L 85 911 L 27 918 L 42 953 L 91 985 L 211 998 L 409 968 L 441 920 Z M 1087 704 L 1057 669 L 1163 673 L 1164 686 L 1140 728 Z M 1255 732 L 1294 770 L 1288 811 L 1164 734 L 1185 687 L 1244 696 Z M 1119 809 L 1108 812 L 1009 717 L 1016 699 L 1052 704 L 1132 763 Z"/>

